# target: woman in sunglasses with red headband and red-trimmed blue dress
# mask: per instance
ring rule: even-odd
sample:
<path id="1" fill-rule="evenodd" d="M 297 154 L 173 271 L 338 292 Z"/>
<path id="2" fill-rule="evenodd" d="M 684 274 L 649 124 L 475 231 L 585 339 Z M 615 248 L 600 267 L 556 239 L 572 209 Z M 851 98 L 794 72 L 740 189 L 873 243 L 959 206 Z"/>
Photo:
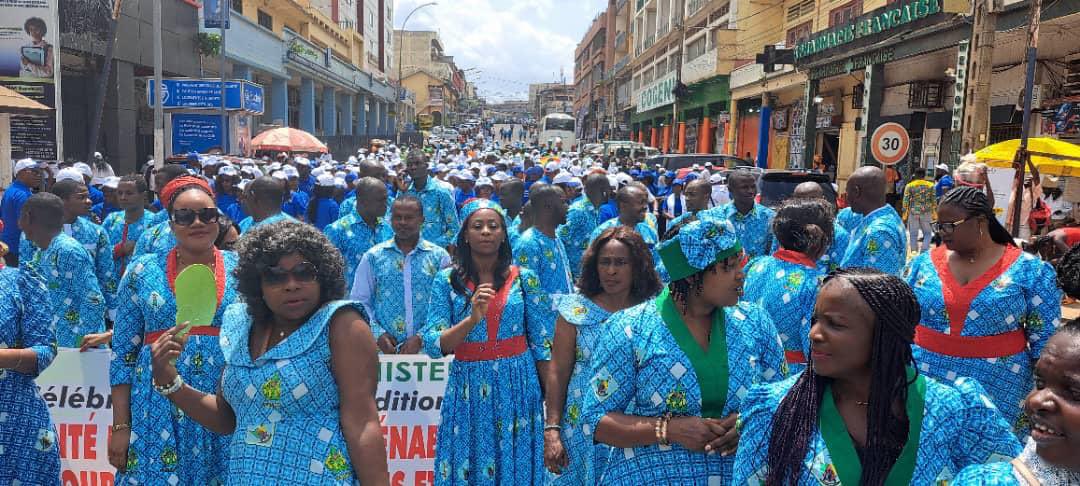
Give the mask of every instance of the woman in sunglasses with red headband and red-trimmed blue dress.
<path id="1" fill-rule="evenodd" d="M 177 413 L 157 391 L 167 383 L 151 380 L 150 345 L 176 325 L 176 275 L 191 265 L 210 267 L 217 293 L 214 323 L 191 329 L 176 366 L 193 387 L 217 388 L 225 362 L 218 345 L 221 314 L 239 297 L 232 278 L 237 256 L 214 246 L 219 214 L 206 181 L 173 179 L 161 201 L 176 246 L 133 259 L 117 296 L 109 462 L 118 484 L 213 484 L 224 477 L 227 437 Z"/>

